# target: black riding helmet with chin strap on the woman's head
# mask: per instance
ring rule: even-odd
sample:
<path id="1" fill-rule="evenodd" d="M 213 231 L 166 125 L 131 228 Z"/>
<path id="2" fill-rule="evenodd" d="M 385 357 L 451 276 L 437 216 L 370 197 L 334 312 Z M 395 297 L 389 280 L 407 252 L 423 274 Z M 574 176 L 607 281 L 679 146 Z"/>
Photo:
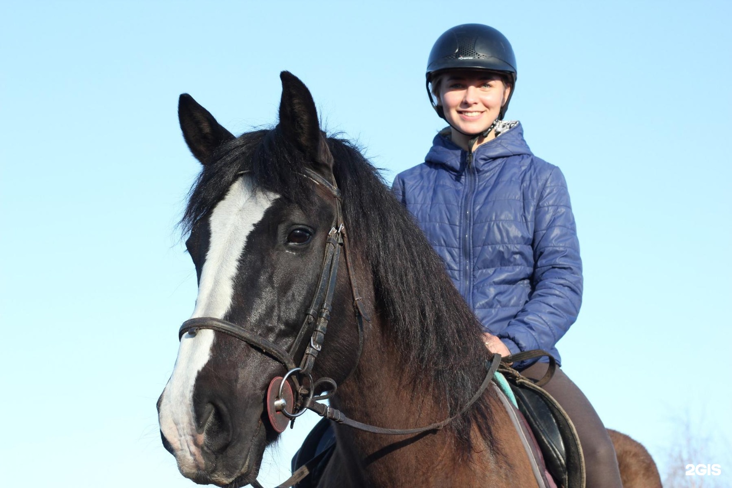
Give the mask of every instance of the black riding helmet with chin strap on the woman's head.
<path id="1" fill-rule="evenodd" d="M 432 98 L 430 83 L 434 75 L 447 70 L 490 70 L 511 78 L 511 92 L 501 108 L 498 119 L 503 119 L 516 86 L 516 58 L 506 36 L 493 27 L 480 23 L 464 23 L 448 29 L 433 45 L 427 61 L 426 87 L 430 103 L 442 119 L 442 107 Z M 493 129 L 493 127 L 490 127 Z M 488 132 L 490 132 L 490 129 Z"/>

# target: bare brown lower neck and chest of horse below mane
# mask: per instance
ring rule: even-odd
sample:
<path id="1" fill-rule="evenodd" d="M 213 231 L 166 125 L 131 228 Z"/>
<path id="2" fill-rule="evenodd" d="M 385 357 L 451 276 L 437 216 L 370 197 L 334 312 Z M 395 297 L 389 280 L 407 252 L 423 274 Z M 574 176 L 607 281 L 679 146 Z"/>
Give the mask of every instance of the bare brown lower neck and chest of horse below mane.
<path id="1" fill-rule="evenodd" d="M 375 319 L 376 320 L 376 319 Z M 381 334 L 384 329 L 372 324 L 372 334 L 365 341 L 365 350 L 356 373 L 338 389 L 334 406 L 347 416 L 366 424 L 393 429 L 423 427 L 447 417 L 447 408 L 436 402 L 436 391 L 422 384 L 424 378 L 410 378 L 393 341 Z M 500 410 L 496 405 L 496 410 Z M 498 413 L 501 413 L 500 411 Z M 503 412 L 505 414 L 505 412 Z M 498 415 L 496 418 L 503 418 Z M 507 426 L 510 426 L 508 418 Z M 512 429 L 512 427 L 507 427 Z M 351 427 L 337 428 L 335 462 L 331 463 L 332 480 L 337 486 L 404 487 L 478 487 L 493 479 L 493 486 L 504 486 L 497 480 L 516 480 L 513 466 L 507 465 L 504 449 L 521 448 L 511 432 L 496 425 L 500 438 L 498 448 L 488 443 L 473 429 L 474 448 L 463 454 L 452 429 L 446 428 L 415 436 L 374 435 Z M 520 456 L 520 452 L 519 456 Z M 465 462 L 466 456 L 470 462 Z M 503 462 L 496 462 L 502 459 Z M 526 469 L 527 467 L 524 466 Z M 531 468 L 526 469 L 531 473 Z M 338 474 L 335 474 L 338 473 Z M 519 478 L 522 476 L 518 476 Z M 528 483 L 505 486 L 532 486 Z M 326 484 L 326 486 L 336 486 Z"/>

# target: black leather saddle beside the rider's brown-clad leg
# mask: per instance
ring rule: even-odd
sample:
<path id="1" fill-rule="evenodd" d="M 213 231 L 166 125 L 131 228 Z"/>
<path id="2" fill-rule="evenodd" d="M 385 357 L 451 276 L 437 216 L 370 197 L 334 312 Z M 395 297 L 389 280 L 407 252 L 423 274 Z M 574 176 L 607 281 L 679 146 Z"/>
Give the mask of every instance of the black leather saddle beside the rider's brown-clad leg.
<path id="1" fill-rule="evenodd" d="M 508 364 L 548 356 L 549 368 L 544 378 L 534 382 Z M 507 380 L 513 404 L 518 407 L 534 440 L 541 451 L 537 462 L 543 463 L 559 488 L 584 488 L 585 465 L 580 439 L 569 416 L 561 405 L 543 388 L 556 369 L 556 361 L 543 350 L 529 350 L 507 356 L 498 372 Z M 500 384 L 501 382 L 498 381 Z M 505 387 L 503 387 L 505 388 Z M 527 449 L 528 450 L 528 449 Z"/>

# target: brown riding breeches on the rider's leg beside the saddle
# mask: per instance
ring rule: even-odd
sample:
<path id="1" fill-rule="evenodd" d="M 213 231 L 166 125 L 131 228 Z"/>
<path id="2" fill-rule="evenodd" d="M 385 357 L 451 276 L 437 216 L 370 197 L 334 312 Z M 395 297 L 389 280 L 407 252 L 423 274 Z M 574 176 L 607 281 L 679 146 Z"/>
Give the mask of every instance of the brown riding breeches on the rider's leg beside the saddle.
<path id="1" fill-rule="evenodd" d="M 544 376 L 548 367 L 548 363 L 536 363 L 523 369 L 521 374 L 538 380 Z M 622 488 L 613 442 L 580 388 L 559 367 L 543 388 L 564 408 L 577 429 L 585 457 L 586 487 Z"/>

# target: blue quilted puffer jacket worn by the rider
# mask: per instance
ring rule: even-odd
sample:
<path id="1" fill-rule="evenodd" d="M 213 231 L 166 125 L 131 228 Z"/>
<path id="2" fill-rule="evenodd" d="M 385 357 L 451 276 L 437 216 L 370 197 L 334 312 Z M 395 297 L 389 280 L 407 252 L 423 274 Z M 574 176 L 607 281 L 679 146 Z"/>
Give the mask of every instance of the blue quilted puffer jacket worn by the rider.
<path id="1" fill-rule="evenodd" d="M 520 124 L 478 146 L 470 163 L 437 135 L 392 189 L 485 330 L 511 353 L 544 349 L 559 361 L 555 344 L 582 302 L 580 247 L 564 176 L 531 154 Z"/>

